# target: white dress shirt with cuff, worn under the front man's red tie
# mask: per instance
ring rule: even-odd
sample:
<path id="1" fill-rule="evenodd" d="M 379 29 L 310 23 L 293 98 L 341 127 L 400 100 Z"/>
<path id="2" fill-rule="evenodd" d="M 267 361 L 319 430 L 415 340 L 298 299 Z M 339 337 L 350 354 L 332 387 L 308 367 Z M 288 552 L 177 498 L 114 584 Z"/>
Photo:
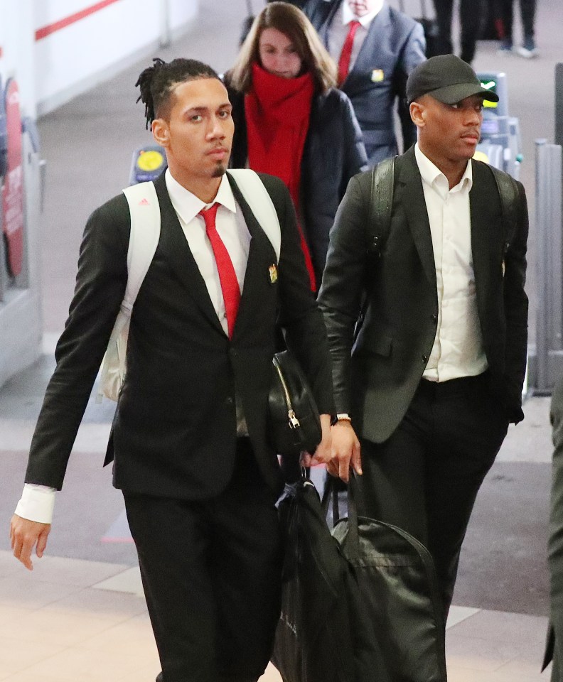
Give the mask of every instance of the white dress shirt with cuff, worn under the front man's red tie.
<path id="1" fill-rule="evenodd" d="M 221 326 L 225 334 L 227 334 L 227 313 L 225 313 L 225 302 L 222 297 L 219 272 L 215 256 L 213 255 L 213 249 L 207 234 L 205 234 L 205 220 L 198 214 L 203 208 L 209 208 L 215 202 L 220 203 L 215 227 L 217 227 L 217 232 L 229 252 L 241 293 L 245 280 L 248 251 L 250 250 L 250 232 L 248 231 L 245 218 L 232 194 L 226 175 L 222 176 L 218 193 L 210 204 L 205 204 L 205 202 L 198 199 L 186 188 L 183 188 L 180 183 L 174 180 L 169 170 L 166 170 L 165 179 L 168 195 L 188 240 L 188 246 L 203 276 L 205 286 Z M 240 411 L 239 401 L 237 401 L 237 433 L 242 435 L 245 431 L 244 417 Z M 15 513 L 21 516 L 22 519 L 50 524 L 55 507 L 55 492 L 55 488 L 46 485 L 26 483 L 23 486 L 23 493 Z"/>

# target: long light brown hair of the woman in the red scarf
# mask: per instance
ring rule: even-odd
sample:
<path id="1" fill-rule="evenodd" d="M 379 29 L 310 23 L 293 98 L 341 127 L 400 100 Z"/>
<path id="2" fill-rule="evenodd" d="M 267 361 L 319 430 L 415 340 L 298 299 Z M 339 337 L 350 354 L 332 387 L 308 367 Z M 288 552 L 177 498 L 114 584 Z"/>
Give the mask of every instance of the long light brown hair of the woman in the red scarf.
<path id="1" fill-rule="evenodd" d="M 264 28 L 275 28 L 291 40 L 301 59 L 302 71 L 313 77 L 316 92 L 326 92 L 336 86 L 336 63 L 323 47 L 313 24 L 296 6 L 271 2 L 254 19 L 232 67 L 230 79 L 235 90 L 252 89 L 252 64 L 260 63 L 259 42 Z"/>

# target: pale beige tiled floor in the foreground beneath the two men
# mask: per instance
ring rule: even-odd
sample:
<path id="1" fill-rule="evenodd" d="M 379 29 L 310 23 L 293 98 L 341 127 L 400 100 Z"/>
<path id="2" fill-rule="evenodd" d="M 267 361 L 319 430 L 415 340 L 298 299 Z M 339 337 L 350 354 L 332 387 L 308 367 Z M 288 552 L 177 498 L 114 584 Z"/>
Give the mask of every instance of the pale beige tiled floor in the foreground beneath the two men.
<path id="1" fill-rule="evenodd" d="M 449 682 L 547 682 L 546 619 L 454 607 Z M 45 556 L 28 573 L 0 552 L 0 681 L 151 682 L 159 660 L 139 571 Z M 269 666 L 261 682 L 279 682 Z"/>

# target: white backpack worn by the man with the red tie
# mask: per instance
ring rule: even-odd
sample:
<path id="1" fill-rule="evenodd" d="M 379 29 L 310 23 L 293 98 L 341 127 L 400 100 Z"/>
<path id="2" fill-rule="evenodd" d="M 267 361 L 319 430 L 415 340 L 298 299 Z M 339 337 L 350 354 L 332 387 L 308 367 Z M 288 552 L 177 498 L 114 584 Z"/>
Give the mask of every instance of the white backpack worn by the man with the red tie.
<path id="1" fill-rule="evenodd" d="M 264 230 L 279 260 L 281 229 L 272 198 L 257 173 L 246 168 L 227 171 L 235 178 L 250 210 Z M 117 313 L 112 335 L 102 360 L 102 372 L 97 391 L 97 402 L 102 396 L 117 401 L 125 377 L 125 357 L 129 320 L 141 284 L 151 265 L 159 244 L 161 215 L 159 197 L 154 183 L 139 183 L 123 190 L 131 214 L 131 233 L 127 249 L 127 287 Z"/>

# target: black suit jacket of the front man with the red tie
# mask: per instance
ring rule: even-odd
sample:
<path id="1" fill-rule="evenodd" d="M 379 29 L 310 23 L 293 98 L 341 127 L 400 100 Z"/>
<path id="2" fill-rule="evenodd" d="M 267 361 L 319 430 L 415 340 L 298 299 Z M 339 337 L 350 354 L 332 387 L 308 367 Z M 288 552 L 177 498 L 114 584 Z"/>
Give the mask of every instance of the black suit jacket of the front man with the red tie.
<path id="1" fill-rule="evenodd" d="M 279 489 L 277 457 L 267 438 L 278 317 L 319 409 L 332 410 L 326 332 L 309 288 L 293 205 L 280 180 L 261 177 L 281 224 L 278 278 L 272 283 L 269 272 L 276 262 L 272 244 L 230 178 L 252 237 L 232 340 L 219 323 L 164 175 L 156 180 L 161 236 L 132 311 L 127 377 L 108 445 L 116 487 L 178 499 L 218 494 L 234 465 L 236 390 L 264 478 Z M 75 296 L 33 436 L 26 482 L 63 485 L 127 283 L 129 229 L 124 195 L 95 210 L 87 222 Z"/>

